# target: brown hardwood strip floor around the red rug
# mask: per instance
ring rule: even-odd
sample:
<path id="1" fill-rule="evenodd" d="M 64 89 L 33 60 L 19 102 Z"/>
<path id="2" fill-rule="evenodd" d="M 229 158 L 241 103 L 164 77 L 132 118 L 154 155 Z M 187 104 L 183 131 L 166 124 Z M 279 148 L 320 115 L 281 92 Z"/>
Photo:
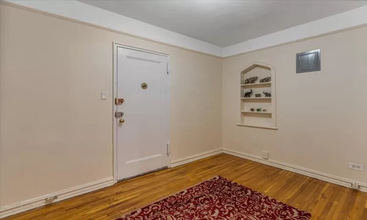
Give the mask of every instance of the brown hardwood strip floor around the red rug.
<path id="1" fill-rule="evenodd" d="M 113 220 L 218 175 L 306 210 L 312 220 L 367 220 L 367 193 L 229 154 L 139 176 L 4 220 Z"/>

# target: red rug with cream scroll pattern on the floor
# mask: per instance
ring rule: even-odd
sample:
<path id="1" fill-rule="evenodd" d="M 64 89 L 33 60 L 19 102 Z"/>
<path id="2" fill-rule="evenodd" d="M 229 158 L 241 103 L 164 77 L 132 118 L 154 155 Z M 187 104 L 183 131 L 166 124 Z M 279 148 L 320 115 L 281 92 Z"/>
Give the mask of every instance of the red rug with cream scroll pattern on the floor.
<path id="1" fill-rule="evenodd" d="M 216 176 L 117 220 L 309 220 L 311 214 Z"/>

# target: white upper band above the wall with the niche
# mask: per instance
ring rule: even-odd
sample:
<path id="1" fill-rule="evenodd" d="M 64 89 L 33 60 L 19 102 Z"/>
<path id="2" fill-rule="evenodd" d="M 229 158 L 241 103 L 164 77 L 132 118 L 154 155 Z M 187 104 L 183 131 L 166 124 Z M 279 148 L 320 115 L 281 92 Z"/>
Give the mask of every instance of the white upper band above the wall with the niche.
<path id="1" fill-rule="evenodd" d="M 223 47 L 222 57 L 230 57 L 250 51 L 293 43 L 309 38 L 331 34 L 367 23 L 367 6 L 301 24 L 272 34 L 264 35 L 238 44 Z"/>

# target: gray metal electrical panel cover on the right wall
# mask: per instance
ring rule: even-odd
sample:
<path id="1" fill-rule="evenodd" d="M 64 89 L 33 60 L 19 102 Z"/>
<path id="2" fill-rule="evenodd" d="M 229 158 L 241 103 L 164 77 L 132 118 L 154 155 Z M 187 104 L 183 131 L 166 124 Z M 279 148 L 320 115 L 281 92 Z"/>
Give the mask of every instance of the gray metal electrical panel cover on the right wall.
<path id="1" fill-rule="evenodd" d="M 320 49 L 296 54 L 296 73 L 321 70 Z"/>

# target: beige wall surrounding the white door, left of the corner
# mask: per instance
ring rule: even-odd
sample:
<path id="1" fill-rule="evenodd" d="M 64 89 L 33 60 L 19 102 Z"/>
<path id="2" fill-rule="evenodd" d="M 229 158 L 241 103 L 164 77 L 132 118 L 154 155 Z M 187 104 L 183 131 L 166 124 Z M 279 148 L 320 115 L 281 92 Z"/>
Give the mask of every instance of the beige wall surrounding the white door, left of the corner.
<path id="1" fill-rule="evenodd" d="M 113 42 L 171 55 L 172 160 L 222 146 L 221 58 L 0 7 L 0 206 L 113 176 Z"/>

